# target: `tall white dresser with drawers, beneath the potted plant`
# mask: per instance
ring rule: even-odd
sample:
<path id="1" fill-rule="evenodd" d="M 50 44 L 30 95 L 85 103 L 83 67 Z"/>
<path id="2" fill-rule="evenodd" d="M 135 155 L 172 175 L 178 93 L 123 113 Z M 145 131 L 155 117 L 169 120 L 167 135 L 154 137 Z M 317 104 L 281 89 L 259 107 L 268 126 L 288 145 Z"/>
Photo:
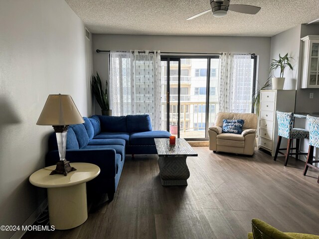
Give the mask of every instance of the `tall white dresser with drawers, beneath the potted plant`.
<path id="1" fill-rule="evenodd" d="M 260 92 L 258 122 L 258 149 L 262 148 L 274 157 L 278 138 L 276 111 L 295 112 L 296 91 L 265 90 Z M 282 140 L 282 147 L 286 147 Z"/>

